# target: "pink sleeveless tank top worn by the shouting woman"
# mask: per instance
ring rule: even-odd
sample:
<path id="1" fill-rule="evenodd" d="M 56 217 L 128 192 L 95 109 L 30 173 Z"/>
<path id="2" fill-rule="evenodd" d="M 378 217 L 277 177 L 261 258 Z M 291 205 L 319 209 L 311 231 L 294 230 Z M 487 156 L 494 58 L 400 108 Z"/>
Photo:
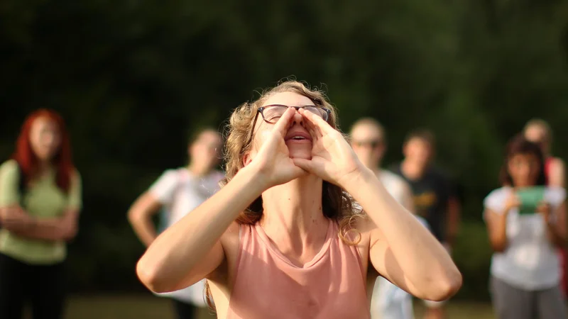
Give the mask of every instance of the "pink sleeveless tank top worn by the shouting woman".
<path id="1" fill-rule="evenodd" d="M 258 223 L 241 225 L 226 318 L 370 318 L 361 257 L 337 233 L 337 223 L 329 223 L 322 250 L 300 268 L 272 244 Z"/>

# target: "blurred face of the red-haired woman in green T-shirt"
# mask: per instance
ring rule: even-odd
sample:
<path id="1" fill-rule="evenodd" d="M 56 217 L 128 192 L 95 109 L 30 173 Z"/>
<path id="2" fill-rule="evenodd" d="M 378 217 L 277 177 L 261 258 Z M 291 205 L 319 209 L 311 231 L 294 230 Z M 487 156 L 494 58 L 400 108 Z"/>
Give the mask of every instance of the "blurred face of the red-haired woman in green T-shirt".
<path id="1" fill-rule="evenodd" d="M 61 133 L 58 124 L 50 118 L 36 118 L 31 125 L 30 145 L 40 161 L 53 159 L 61 145 Z"/>

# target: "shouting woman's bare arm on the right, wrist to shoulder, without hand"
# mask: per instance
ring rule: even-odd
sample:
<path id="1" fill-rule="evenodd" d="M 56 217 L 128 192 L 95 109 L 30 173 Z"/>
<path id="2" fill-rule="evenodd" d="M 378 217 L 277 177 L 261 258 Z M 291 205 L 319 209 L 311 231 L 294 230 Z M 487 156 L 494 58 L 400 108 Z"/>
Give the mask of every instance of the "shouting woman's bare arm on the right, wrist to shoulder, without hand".
<path id="1" fill-rule="evenodd" d="M 379 274 L 419 298 L 445 300 L 461 287 L 461 274 L 447 251 L 370 171 L 346 182 L 346 191 L 371 218 L 369 254 Z"/>

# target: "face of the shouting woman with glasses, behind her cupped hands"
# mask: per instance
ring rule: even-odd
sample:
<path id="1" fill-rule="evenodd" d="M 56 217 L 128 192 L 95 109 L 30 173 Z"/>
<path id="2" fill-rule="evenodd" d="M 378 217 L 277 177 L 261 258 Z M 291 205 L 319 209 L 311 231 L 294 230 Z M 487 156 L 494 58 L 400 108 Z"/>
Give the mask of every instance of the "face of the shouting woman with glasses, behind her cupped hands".
<path id="1" fill-rule="evenodd" d="M 262 106 L 280 104 L 285 106 L 310 106 L 315 105 L 314 102 L 306 96 L 294 92 L 282 92 L 274 94 L 264 101 Z M 290 158 L 312 159 L 312 136 L 306 128 L 305 119 L 295 111 L 293 120 L 288 125 L 288 131 L 285 135 L 285 143 L 290 153 Z M 258 114 L 256 127 L 253 128 L 253 147 L 251 149 L 250 159 L 256 155 L 256 151 L 263 145 L 268 134 L 271 133 L 274 124 L 263 121 L 261 114 Z M 307 138 L 294 139 L 294 136 L 302 135 Z"/>

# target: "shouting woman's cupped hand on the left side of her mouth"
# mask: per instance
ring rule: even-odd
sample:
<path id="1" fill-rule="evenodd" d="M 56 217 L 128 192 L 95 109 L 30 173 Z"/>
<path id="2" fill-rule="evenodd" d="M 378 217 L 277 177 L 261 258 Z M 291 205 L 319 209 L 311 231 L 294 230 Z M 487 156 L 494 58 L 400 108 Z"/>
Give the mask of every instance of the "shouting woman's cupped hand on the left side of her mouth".
<path id="1" fill-rule="evenodd" d="M 282 117 L 274 124 L 270 132 L 266 132 L 256 156 L 249 165 L 256 167 L 266 188 L 288 183 L 307 174 L 304 169 L 297 167 L 290 158 L 288 146 L 284 141 L 290 121 L 296 113 L 295 108 L 288 108 Z"/>

